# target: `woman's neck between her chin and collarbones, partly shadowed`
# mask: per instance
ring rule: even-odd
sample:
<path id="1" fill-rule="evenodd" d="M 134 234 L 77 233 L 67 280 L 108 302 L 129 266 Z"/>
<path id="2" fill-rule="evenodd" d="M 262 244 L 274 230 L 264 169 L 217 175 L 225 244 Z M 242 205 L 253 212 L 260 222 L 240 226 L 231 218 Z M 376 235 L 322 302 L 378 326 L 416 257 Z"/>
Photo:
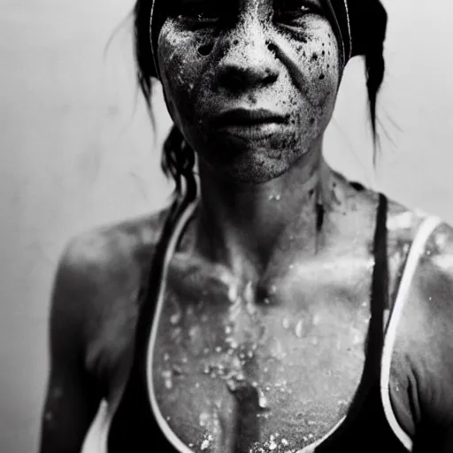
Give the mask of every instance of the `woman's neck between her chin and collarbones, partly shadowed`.
<path id="1" fill-rule="evenodd" d="M 203 163 L 197 245 L 212 261 L 236 274 L 256 279 L 286 236 L 303 238 L 316 248 L 319 205 L 332 208 L 334 173 L 319 149 L 301 158 L 286 173 L 261 184 L 219 178 Z"/>

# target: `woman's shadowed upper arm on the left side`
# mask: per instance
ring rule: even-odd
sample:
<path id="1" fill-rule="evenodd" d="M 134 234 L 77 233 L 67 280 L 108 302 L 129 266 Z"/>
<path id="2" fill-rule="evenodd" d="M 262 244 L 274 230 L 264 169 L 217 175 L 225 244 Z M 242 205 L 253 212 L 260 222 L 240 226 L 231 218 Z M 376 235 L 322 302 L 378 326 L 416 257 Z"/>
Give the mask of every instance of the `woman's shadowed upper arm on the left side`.
<path id="1" fill-rule="evenodd" d="M 79 453 L 101 400 L 85 363 L 86 323 L 96 285 L 74 242 L 62 257 L 50 311 L 50 377 L 41 452 Z"/>

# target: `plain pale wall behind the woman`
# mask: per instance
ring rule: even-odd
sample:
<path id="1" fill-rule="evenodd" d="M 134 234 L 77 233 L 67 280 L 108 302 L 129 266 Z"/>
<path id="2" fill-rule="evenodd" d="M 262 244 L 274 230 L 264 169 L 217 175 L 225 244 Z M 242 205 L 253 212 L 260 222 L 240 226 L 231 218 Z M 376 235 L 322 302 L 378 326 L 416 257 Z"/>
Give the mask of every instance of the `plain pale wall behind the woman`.
<path id="1" fill-rule="evenodd" d="M 388 75 L 372 170 L 360 60 L 349 64 L 326 156 L 411 207 L 453 221 L 453 4 L 386 1 Z M 134 84 L 132 2 L 0 4 L 0 451 L 37 449 L 58 257 L 81 231 L 157 209 L 170 186 L 157 131 Z"/>

